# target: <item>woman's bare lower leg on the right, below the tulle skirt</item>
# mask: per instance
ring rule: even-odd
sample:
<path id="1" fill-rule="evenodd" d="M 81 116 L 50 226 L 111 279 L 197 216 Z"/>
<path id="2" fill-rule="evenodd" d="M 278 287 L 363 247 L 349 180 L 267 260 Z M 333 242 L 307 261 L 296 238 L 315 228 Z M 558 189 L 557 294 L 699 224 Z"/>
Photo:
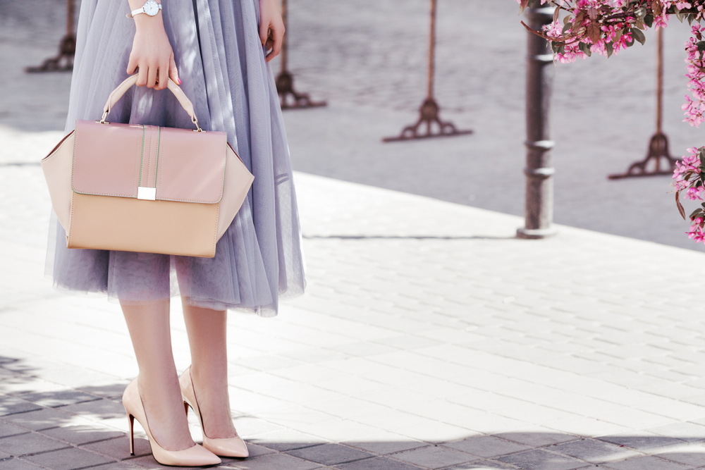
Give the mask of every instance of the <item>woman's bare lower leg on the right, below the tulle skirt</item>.
<path id="1" fill-rule="evenodd" d="M 236 433 L 228 397 L 228 313 L 194 307 L 185 297 L 181 300 L 191 347 L 191 379 L 204 432 L 212 439 L 232 438 Z"/>

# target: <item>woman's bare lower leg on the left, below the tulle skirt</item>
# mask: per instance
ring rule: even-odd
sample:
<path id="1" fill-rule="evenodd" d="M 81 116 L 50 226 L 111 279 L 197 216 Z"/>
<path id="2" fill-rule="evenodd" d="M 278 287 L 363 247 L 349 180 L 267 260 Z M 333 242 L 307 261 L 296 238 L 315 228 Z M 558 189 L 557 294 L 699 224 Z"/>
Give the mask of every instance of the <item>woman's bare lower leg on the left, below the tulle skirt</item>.
<path id="1" fill-rule="evenodd" d="M 137 385 L 149 430 L 166 450 L 193 447 L 171 350 L 169 301 L 121 307 L 140 367 Z"/>

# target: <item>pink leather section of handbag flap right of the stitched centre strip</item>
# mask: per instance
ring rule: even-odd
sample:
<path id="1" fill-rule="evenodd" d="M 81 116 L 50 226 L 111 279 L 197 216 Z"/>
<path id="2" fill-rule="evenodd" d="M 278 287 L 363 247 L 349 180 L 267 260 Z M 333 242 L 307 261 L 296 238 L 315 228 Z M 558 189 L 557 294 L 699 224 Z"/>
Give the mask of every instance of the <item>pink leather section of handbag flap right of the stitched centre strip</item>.
<path id="1" fill-rule="evenodd" d="M 157 199 L 215 204 L 223 194 L 224 132 L 161 128 Z"/>

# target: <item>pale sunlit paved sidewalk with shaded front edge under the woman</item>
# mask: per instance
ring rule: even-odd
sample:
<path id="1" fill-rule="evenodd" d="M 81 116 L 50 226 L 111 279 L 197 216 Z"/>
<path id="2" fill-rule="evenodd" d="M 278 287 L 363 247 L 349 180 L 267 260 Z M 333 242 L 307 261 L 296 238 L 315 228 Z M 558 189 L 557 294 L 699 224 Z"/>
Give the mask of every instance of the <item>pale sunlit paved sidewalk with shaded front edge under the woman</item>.
<path id="1" fill-rule="evenodd" d="M 295 180 L 307 294 L 230 316 L 252 457 L 221 468 L 705 468 L 703 254 L 568 227 L 517 240 L 515 216 Z M 0 166 L 0 470 L 159 468 L 146 440 L 128 454 L 118 307 L 42 277 L 43 184 Z"/>

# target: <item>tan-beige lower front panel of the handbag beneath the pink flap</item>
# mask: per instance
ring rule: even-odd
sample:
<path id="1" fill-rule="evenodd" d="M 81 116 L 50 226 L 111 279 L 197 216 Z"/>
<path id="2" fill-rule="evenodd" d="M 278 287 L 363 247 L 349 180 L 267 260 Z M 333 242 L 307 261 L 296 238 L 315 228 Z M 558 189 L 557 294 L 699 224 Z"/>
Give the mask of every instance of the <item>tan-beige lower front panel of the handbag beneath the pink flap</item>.
<path id="1" fill-rule="evenodd" d="M 69 248 L 212 258 L 219 204 L 73 193 Z"/>

